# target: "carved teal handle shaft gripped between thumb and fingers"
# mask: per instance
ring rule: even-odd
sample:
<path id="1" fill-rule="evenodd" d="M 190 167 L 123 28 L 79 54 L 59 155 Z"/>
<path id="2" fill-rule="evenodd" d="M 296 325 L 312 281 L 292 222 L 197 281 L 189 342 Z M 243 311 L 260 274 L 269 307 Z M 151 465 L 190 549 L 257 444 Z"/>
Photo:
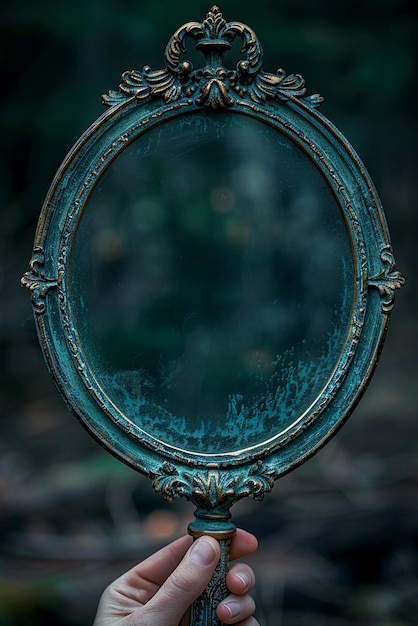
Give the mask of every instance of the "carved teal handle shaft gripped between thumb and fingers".
<path id="1" fill-rule="evenodd" d="M 219 563 L 208 586 L 192 605 L 190 626 L 221 626 L 223 624 L 216 615 L 216 607 L 228 595 L 226 575 L 229 570 L 231 538 L 219 539 L 219 544 L 221 546 Z"/>

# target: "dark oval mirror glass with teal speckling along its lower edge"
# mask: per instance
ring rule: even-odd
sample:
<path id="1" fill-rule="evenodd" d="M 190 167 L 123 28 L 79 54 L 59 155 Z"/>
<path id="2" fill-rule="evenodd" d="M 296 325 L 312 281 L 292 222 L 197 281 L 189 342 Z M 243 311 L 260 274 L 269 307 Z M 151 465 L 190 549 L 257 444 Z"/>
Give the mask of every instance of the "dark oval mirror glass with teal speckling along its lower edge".
<path id="1" fill-rule="evenodd" d="M 354 272 L 311 159 L 244 115 L 177 117 L 131 142 L 80 219 L 72 319 L 90 375 L 152 437 L 240 451 L 290 428 L 332 375 Z"/>

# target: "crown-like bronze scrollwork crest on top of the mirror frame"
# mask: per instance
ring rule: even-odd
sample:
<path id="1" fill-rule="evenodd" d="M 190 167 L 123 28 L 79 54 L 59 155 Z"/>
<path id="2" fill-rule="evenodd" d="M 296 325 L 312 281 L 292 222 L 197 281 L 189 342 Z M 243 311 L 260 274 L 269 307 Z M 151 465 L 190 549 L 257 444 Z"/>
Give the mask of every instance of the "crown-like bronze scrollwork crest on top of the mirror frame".
<path id="1" fill-rule="evenodd" d="M 228 69 L 223 55 L 237 37 L 243 42 L 244 58 L 235 69 Z M 205 57 L 202 67 L 196 70 L 190 61 L 182 60 L 190 39 Z M 254 104 L 300 100 L 311 107 L 319 106 L 323 100 L 318 94 L 306 95 L 305 81 L 299 74 L 288 76 L 283 69 L 276 74 L 264 72 L 263 50 L 257 35 L 241 22 L 226 22 L 217 6 L 202 23 L 187 22 L 174 33 L 165 49 L 165 65 L 165 69 L 145 66 L 142 71 L 124 72 L 119 90 L 102 96 L 103 103 L 112 106 L 134 97 L 140 102 L 162 98 L 168 104 L 186 98 L 197 106 L 219 110 L 240 99 Z"/>

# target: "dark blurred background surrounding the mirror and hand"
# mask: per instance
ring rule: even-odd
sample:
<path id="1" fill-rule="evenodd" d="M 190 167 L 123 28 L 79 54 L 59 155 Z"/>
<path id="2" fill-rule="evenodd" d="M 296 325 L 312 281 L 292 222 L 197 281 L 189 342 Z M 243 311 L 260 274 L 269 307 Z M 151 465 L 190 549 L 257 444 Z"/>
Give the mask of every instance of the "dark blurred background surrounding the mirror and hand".
<path id="1" fill-rule="evenodd" d="M 52 177 L 125 69 L 163 67 L 202 0 L 16 0 L 1 47 L 0 626 L 92 622 L 104 586 L 184 532 L 186 502 L 102 451 L 68 413 L 37 343 L 20 277 Z M 225 0 L 265 69 L 301 73 L 374 180 L 399 292 L 380 365 L 336 438 L 235 521 L 263 626 L 418 623 L 417 60 L 415 0 Z"/>

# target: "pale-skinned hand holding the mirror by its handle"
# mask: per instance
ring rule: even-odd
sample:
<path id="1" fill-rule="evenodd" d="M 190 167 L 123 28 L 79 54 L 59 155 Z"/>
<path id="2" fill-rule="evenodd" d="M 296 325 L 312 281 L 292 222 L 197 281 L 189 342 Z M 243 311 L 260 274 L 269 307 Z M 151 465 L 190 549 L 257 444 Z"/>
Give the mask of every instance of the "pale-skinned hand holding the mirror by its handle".
<path id="1" fill-rule="evenodd" d="M 238 529 L 231 542 L 231 561 L 257 550 L 254 535 Z M 181 537 L 123 574 L 103 592 L 93 626 L 189 626 L 190 605 L 208 584 L 219 560 L 219 543 Z M 253 570 L 231 565 L 228 595 L 216 612 L 224 624 L 259 626 L 253 617 Z"/>

